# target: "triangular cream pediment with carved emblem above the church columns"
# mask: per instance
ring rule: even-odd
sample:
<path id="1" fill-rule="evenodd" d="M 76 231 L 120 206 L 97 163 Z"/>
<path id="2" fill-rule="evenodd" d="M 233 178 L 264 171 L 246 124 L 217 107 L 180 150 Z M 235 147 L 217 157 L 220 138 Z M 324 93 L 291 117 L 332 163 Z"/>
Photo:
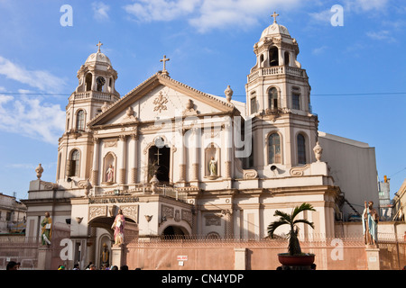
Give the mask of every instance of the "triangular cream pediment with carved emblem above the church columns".
<path id="1" fill-rule="evenodd" d="M 169 76 L 155 74 L 135 87 L 104 112 L 89 121 L 88 126 L 118 125 L 173 119 L 180 116 L 202 116 L 237 112 L 232 103 L 184 85 Z"/>

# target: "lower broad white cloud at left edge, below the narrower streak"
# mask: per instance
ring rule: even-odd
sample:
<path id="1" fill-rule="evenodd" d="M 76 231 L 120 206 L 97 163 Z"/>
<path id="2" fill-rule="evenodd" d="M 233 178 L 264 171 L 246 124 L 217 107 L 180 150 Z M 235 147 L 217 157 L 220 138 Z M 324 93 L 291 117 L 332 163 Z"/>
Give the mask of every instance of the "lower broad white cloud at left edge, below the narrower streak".
<path id="1" fill-rule="evenodd" d="M 65 112 L 59 104 L 0 94 L 0 130 L 57 144 L 64 125 Z"/>

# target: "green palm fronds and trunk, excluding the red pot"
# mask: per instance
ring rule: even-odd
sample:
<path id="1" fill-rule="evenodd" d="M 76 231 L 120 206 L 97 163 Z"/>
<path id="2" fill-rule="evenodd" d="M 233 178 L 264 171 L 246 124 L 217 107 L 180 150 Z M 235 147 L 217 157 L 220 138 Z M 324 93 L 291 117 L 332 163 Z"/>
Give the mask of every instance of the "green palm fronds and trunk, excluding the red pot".
<path id="1" fill-rule="evenodd" d="M 283 211 L 275 211 L 273 216 L 279 216 L 279 220 L 273 221 L 271 224 L 268 225 L 268 235 L 273 238 L 273 233 L 275 229 L 282 225 L 289 225 L 291 226 L 291 230 L 288 233 L 289 238 L 289 246 L 288 252 L 290 256 L 299 255 L 301 254 L 300 243 L 298 238 L 299 227 L 297 226 L 298 223 L 305 223 L 308 224 L 311 228 L 314 229 L 313 222 L 310 222 L 306 219 L 298 219 L 295 220 L 296 216 L 302 211 L 316 211 L 313 206 L 309 203 L 302 203 L 300 206 L 297 206 L 291 211 L 291 214 L 285 213 Z"/>

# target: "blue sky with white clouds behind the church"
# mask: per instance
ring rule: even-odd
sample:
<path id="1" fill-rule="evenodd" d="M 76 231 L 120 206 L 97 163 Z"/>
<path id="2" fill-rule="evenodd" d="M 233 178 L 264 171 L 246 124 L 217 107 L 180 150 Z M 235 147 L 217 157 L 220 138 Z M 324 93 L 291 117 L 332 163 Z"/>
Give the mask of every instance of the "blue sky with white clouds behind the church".
<path id="1" fill-rule="evenodd" d="M 72 26 L 62 26 L 63 4 Z M 333 26 L 331 7 L 344 8 Z M 171 60 L 171 77 L 245 102 L 254 43 L 272 23 L 299 43 L 319 130 L 368 143 L 391 194 L 406 178 L 406 5 L 401 0 L 0 0 L 0 193 L 28 197 L 34 169 L 55 181 L 65 106 L 97 42 L 124 95 Z"/>

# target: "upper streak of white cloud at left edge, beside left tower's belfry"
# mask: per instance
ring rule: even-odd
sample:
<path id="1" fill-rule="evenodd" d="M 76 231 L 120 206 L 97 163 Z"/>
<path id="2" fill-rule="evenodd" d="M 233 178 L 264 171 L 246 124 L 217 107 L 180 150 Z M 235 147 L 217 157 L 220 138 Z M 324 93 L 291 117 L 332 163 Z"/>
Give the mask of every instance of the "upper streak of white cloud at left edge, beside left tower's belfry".
<path id="1" fill-rule="evenodd" d="M 42 70 L 27 70 L 0 56 L 0 75 L 47 92 L 58 92 L 65 81 Z"/>

